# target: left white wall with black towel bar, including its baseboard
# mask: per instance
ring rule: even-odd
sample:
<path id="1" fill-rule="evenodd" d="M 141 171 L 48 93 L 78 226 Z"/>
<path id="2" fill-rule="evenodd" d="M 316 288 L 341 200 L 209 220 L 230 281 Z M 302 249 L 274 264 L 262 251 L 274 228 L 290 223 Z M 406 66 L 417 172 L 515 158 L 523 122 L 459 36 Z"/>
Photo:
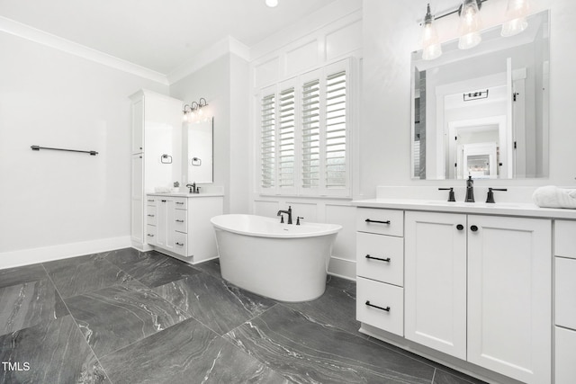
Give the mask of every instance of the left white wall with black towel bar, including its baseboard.
<path id="1" fill-rule="evenodd" d="M 4 32 L 0 50 L 0 268 L 130 246 L 128 96 L 167 86 Z"/>

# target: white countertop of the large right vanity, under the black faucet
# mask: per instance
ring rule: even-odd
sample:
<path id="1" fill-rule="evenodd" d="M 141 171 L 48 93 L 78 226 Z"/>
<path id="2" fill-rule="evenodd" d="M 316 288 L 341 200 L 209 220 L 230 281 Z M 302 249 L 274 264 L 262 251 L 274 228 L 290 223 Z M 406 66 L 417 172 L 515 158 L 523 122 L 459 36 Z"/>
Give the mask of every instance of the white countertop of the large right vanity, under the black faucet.
<path id="1" fill-rule="evenodd" d="M 540 208 L 536 204 L 530 203 L 496 202 L 491 204 L 486 202 L 428 201 L 419 199 L 368 199 L 352 201 L 352 205 L 392 210 L 431 210 L 546 219 L 576 219 L 576 210 Z"/>

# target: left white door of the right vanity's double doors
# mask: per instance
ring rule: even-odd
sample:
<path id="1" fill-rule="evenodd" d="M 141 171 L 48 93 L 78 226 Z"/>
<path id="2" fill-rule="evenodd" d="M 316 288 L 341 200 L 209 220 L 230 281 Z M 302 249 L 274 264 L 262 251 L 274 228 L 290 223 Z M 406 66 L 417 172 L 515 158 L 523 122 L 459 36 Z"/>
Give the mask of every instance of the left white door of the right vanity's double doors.
<path id="1" fill-rule="evenodd" d="M 406 212 L 405 337 L 466 358 L 466 216 Z"/>

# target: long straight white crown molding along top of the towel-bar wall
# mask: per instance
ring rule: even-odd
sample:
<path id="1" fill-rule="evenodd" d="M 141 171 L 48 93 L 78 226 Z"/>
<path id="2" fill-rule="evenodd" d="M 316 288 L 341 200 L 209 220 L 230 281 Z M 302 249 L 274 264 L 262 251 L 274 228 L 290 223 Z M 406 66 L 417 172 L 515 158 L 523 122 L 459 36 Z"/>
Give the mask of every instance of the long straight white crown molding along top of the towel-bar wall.
<path id="1" fill-rule="evenodd" d="M 141 67 L 130 63 L 130 61 L 113 57 L 112 55 L 108 55 L 99 50 L 85 47 L 84 45 L 78 44 L 74 41 L 60 38 L 51 33 L 40 31 L 29 25 L 23 24 L 22 22 L 16 22 L 4 16 L 0 16 L 0 31 L 37 42 L 53 49 L 67 52 L 80 58 L 94 61 L 106 67 L 112 67 L 135 76 L 147 78 L 148 80 L 163 85 L 169 85 L 168 79 L 164 74 L 148 69 L 147 67 Z"/>

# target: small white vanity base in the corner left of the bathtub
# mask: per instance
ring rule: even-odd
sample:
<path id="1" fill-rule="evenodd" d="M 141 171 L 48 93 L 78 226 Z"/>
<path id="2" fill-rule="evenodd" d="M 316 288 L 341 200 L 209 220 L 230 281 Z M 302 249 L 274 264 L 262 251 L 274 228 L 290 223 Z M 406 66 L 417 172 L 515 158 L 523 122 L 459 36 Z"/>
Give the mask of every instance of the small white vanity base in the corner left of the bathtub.
<path id="1" fill-rule="evenodd" d="M 222 196 L 148 194 L 148 244 L 186 263 L 217 257 L 210 219 L 222 214 L 222 204 Z"/>

